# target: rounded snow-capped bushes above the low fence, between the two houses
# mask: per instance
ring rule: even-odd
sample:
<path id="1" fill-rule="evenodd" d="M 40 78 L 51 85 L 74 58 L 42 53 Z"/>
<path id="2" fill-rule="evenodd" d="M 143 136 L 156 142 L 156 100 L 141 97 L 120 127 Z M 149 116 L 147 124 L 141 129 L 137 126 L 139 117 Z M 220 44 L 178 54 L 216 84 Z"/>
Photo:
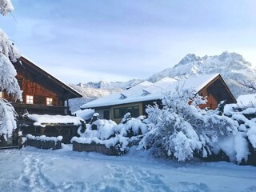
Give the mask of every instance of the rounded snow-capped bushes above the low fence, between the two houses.
<path id="1" fill-rule="evenodd" d="M 94 117 L 98 117 L 97 114 Z M 144 117 L 130 118 L 127 113 L 120 124 L 111 120 L 92 118 L 86 124 L 86 130 L 78 129 L 80 138 L 72 138 L 71 141 L 87 143 L 95 142 L 107 147 L 118 146 L 120 150 L 128 150 L 129 144 L 138 143 L 142 135 L 147 132 L 147 126 L 143 123 Z"/>

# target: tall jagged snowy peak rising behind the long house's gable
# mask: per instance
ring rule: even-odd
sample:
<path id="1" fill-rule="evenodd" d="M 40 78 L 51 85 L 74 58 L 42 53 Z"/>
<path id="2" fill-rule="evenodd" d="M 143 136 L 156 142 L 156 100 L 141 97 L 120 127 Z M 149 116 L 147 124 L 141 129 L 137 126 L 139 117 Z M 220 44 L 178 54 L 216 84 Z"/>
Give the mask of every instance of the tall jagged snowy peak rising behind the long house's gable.
<path id="1" fill-rule="evenodd" d="M 214 73 L 222 75 L 222 78 L 224 78 L 235 98 L 240 94 L 249 93 L 238 81 L 256 82 L 255 67 L 252 66 L 250 62 L 246 62 L 245 59 L 242 58 L 242 55 L 228 51 L 220 55 L 206 55 L 202 58 L 195 54 L 187 54 L 185 58 L 182 58 L 174 67 L 162 70 L 152 75 L 147 80 L 156 82 L 165 77 L 181 79 Z"/>

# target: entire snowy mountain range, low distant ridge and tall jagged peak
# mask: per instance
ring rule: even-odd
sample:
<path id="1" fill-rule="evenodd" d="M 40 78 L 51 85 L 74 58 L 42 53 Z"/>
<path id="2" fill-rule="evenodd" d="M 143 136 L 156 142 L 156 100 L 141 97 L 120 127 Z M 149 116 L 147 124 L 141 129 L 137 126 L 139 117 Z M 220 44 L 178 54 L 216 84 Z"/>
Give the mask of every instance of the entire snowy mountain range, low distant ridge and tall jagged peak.
<path id="1" fill-rule="evenodd" d="M 158 80 L 170 78 L 190 78 L 204 74 L 218 73 L 222 75 L 229 86 L 234 97 L 240 94 L 248 94 L 249 90 L 242 87 L 238 81 L 250 81 L 256 83 L 256 69 L 246 62 L 240 54 L 223 52 L 220 55 L 199 57 L 195 54 L 187 54 L 174 67 L 162 70 L 146 80 L 157 82 Z M 70 85 L 84 95 L 83 98 L 75 98 L 70 101 L 71 111 L 78 110 L 79 106 L 114 92 L 121 92 L 130 86 L 142 82 L 142 79 L 132 79 L 128 82 L 88 82 Z"/>

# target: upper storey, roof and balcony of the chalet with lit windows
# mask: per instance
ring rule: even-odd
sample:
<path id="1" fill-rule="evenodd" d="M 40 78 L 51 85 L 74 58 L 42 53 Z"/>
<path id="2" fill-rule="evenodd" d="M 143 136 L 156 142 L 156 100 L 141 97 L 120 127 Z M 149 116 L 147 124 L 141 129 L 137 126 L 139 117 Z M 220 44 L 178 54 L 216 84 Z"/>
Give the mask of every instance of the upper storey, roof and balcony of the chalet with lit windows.
<path id="1" fill-rule="evenodd" d="M 22 102 L 1 93 L 9 100 L 18 114 L 69 114 L 70 98 L 80 98 L 82 94 L 67 86 L 39 66 L 21 57 L 14 63 L 19 86 L 22 90 Z M 66 101 L 66 105 L 65 105 Z"/>

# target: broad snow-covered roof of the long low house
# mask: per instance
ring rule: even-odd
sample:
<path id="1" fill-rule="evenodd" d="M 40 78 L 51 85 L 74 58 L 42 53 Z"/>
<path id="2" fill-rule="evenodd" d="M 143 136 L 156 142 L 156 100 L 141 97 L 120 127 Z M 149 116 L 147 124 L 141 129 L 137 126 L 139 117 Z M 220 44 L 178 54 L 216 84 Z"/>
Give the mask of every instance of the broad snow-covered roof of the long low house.
<path id="1" fill-rule="evenodd" d="M 182 88 L 194 88 L 197 92 L 202 90 L 210 81 L 219 74 L 207 74 L 200 77 L 175 80 L 174 78 L 163 78 L 162 80 L 149 83 L 142 82 L 121 94 L 110 94 L 106 97 L 98 98 L 81 106 L 82 109 L 95 108 L 101 106 L 115 106 L 132 102 L 144 102 L 162 98 L 162 93 L 174 91 L 177 86 Z"/>

